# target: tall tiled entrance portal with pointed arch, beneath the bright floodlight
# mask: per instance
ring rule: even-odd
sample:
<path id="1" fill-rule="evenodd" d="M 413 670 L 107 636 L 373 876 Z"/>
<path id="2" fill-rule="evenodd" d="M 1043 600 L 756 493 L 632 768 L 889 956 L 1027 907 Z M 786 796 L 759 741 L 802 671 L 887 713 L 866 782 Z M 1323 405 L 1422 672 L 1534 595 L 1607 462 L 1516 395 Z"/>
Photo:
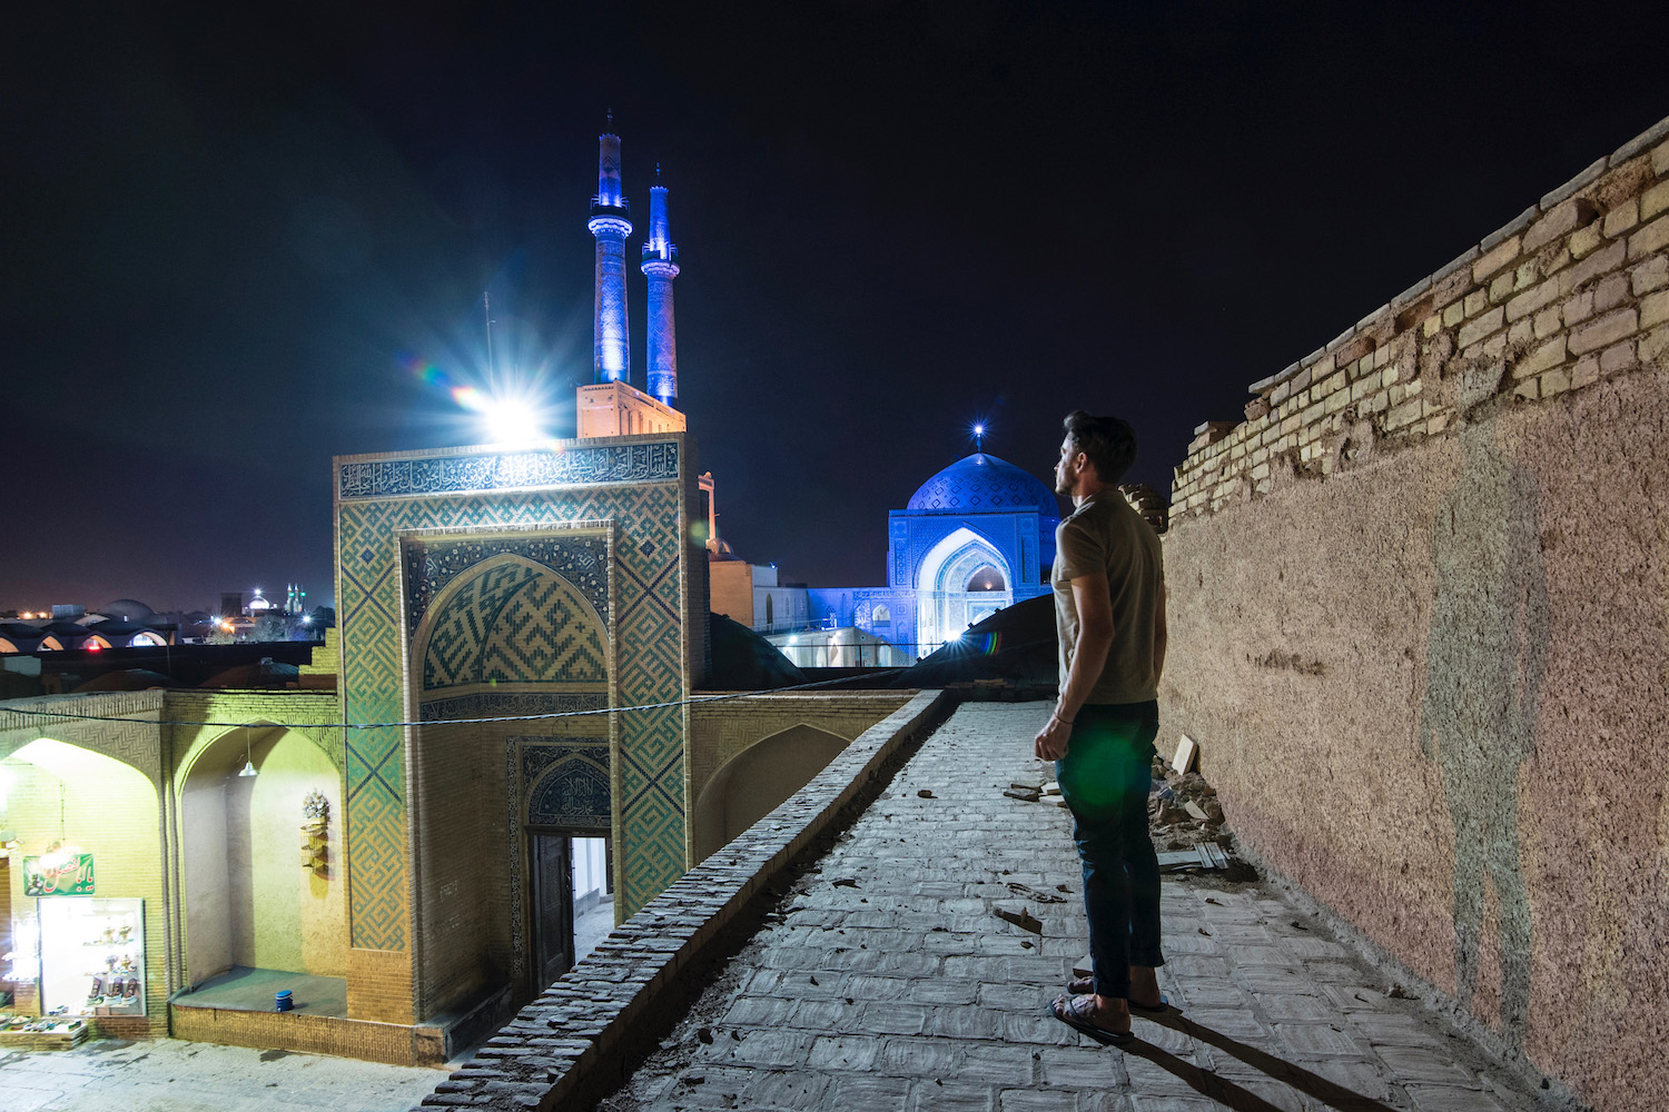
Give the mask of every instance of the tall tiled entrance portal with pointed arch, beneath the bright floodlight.
<path id="1" fill-rule="evenodd" d="M 337 460 L 350 940 L 404 974 L 350 979 L 352 1015 L 412 1022 L 527 969 L 531 810 L 608 825 L 626 914 L 684 870 L 688 707 L 587 712 L 701 675 L 694 492 L 681 433 Z"/>

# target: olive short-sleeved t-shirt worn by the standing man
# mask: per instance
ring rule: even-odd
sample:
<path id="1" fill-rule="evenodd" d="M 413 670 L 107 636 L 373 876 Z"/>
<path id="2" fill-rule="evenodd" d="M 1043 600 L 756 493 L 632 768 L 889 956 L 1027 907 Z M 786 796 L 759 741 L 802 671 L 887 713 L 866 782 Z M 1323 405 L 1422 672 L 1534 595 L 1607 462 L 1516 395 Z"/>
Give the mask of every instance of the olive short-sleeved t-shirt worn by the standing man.
<path id="1" fill-rule="evenodd" d="M 1105 575 L 1113 604 L 1113 644 L 1090 704 L 1158 699 L 1153 680 L 1153 610 L 1165 584 L 1158 533 L 1113 487 L 1092 493 L 1055 530 L 1055 629 L 1060 634 L 1060 684 L 1066 685 L 1078 644 L 1078 607 L 1071 580 Z"/>

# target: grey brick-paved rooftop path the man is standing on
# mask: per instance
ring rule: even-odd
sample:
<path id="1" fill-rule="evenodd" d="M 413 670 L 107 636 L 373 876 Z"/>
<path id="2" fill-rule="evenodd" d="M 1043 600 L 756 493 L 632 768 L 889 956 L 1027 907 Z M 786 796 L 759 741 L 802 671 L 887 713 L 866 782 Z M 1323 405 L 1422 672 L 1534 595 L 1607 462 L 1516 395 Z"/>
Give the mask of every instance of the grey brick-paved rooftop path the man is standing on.
<path id="1" fill-rule="evenodd" d="M 1137 1019 L 1138 1042 L 1113 1049 L 1046 1017 L 1087 952 L 1070 819 L 1001 792 L 1040 779 L 1048 710 L 963 705 L 599 1107 L 1537 1107 L 1260 884 L 1167 879 L 1160 985 L 1178 1019 Z M 993 914 L 1021 904 L 1041 935 Z"/>

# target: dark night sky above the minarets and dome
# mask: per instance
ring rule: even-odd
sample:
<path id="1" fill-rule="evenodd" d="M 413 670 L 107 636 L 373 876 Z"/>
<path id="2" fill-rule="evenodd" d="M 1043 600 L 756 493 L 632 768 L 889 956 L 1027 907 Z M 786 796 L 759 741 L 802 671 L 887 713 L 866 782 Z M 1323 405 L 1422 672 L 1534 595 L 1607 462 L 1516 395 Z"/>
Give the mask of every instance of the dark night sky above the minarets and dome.
<path id="1" fill-rule="evenodd" d="M 481 442 L 417 370 L 489 385 L 484 290 L 571 435 L 608 108 L 633 378 L 661 162 L 721 535 L 813 585 L 885 584 L 975 418 L 1046 477 L 1117 412 L 1168 490 L 1669 113 L 1662 5 L 60 7 L 0 67 L 0 610 L 332 602 L 330 457 Z"/>

